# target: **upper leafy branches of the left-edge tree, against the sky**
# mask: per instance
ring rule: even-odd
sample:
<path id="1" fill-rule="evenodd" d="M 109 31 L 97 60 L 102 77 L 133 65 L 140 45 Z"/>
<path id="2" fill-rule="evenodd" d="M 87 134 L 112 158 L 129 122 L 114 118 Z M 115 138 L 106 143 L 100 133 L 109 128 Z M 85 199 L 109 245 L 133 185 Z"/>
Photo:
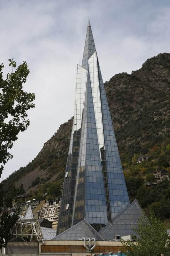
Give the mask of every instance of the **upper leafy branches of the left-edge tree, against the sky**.
<path id="1" fill-rule="evenodd" d="M 23 90 L 23 84 L 27 80 L 29 69 L 24 61 L 16 68 L 16 62 L 9 60 L 12 72 L 9 72 L 6 79 L 3 79 L 4 65 L 0 64 L 0 175 L 4 164 L 12 158 L 9 149 L 17 140 L 19 132 L 27 129 L 30 121 L 27 119 L 27 110 L 34 108 L 34 93 L 27 93 Z"/>

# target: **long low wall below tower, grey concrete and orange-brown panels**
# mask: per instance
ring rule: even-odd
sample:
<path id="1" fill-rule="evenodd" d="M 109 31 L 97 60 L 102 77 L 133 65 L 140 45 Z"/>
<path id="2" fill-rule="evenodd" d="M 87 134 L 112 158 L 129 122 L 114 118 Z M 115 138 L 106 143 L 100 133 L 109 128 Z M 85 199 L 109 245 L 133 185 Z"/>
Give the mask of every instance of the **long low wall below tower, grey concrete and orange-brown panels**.
<path id="1" fill-rule="evenodd" d="M 43 250 L 41 251 L 41 249 Z M 96 241 L 96 247 L 93 251 L 87 252 L 82 240 L 45 240 L 44 244 L 42 242 L 9 242 L 6 246 L 6 255 L 83 256 L 94 253 L 100 254 L 101 252 L 118 252 L 121 249 L 122 244 L 120 241 Z"/>

